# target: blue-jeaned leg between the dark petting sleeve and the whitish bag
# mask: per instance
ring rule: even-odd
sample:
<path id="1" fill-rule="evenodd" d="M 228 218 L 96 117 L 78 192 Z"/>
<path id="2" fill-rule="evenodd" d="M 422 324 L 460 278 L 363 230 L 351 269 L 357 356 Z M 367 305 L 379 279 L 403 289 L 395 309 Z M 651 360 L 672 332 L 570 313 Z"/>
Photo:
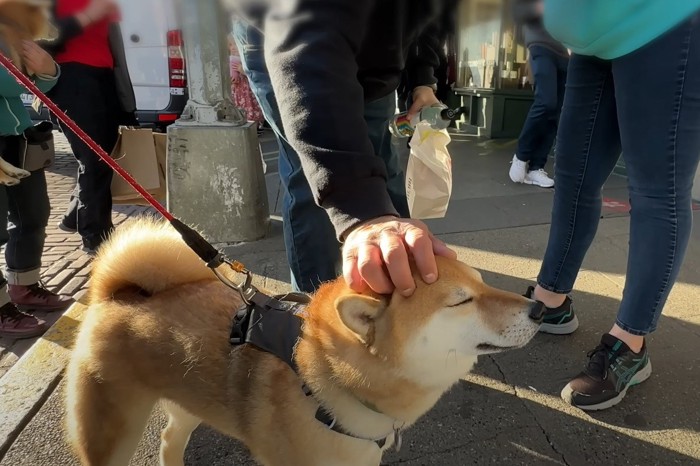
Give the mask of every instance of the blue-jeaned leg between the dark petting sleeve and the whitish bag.
<path id="1" fill-rule="evenodd" d="M 365 122 L 375 153 L 384 161 L 387 172 L 387 189 L 389 196 L 402 217 L 410 217 L 406 198 L 406 179 L 404 177 L 399 154 L 391 144 L 389 120 L 396 113 L 396 94 L 365 104 Z"/>

